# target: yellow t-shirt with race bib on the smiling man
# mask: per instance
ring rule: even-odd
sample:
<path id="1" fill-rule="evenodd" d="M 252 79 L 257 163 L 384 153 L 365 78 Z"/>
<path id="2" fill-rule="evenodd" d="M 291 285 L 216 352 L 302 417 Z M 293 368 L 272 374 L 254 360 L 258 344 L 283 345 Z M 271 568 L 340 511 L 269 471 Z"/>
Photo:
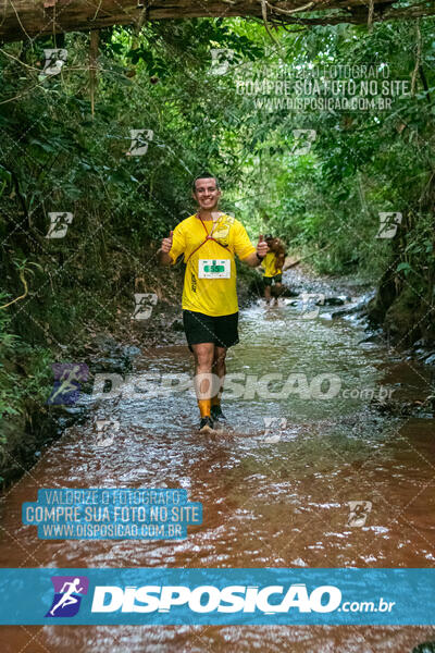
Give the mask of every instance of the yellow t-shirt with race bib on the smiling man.
<path id="1" fill-rule="evenodd" d="M 211 232 L 221 245 L 207 241 L 199 247 Z M 210 220 L 203 221 L 203 224 L 196 215 L 183 220 L 174 230 L 170 250 L 173 263 L 182 254 L 184 262 L 187 262 L 183 308 L 213 317 L 237 312 L 234 255 L 244 259 L 254 251 L 246 229 L 231 215 L 222 213 L 216 222 Z"/>

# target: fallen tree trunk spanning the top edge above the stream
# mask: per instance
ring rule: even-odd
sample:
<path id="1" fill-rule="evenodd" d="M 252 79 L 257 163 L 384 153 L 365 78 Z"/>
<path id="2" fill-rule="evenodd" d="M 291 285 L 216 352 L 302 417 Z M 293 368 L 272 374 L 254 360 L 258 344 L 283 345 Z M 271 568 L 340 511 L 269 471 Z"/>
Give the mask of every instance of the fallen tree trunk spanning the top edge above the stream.
<path id="1" fill-rule="evenodd" d="M 393 9 L 394 0 L 373 0 L 373 22 L 395 17 L 419 17 L 435 14 L 428 2 Z M 147 20 L 191 17 L 262 17 L 268 21 L 326 25 L 366 23 L 368 0 L 0 0 L 0 39 L 5 41 L 35 38 L 47 34 L 100 29 L 110 25 L 140 23 Z M 301 10 L 304 8 L 304 11 Z M 333 13 L 331 10 L 341 10 Z M 324 16 L 310 17 L 311 11 Z"/>

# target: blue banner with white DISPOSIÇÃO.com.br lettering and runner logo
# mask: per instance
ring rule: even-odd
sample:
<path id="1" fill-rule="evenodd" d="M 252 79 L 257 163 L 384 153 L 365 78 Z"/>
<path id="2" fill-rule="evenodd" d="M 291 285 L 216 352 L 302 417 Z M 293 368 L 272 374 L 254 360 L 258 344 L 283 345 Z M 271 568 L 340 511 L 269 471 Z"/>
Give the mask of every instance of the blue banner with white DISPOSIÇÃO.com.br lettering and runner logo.
<path id="1" fill-rule="evenodd" d="M 435 625 L 435 569 L 0 569 L 1 625 Z"/>

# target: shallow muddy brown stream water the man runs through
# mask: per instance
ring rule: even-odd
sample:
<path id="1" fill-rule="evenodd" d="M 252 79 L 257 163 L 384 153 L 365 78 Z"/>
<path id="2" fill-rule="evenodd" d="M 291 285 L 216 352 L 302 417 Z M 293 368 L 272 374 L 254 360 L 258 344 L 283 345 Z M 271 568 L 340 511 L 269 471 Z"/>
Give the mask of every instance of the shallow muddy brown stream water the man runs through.
<path id="1" fill-rule="evenodd" d="M 187 392 L 96 402 L 88 421 L 66 430 L 3 496 L 0 565 L 433 567 L 434 420 L 424 412 L 393 417 L 368 397 L 368 389 L 376 397 L 382 386 L 396 399 L 422 399 L 428 372 L 394 350 L 359 344 L 364 336 L 353 319 L 331 320 L 327 307 L 311 320 L 289 301 L 243 311 L 228 372 L 282 374 L 283 383 L 297 373 L 302 386 L 286 397 L 227 398 L 227 434 L 196 433 Z M 136 372 L 191 373 L 190 355 L 184 344 L 144 349 Z M 300 387 L 304 379 L 315 387 L 319 374 L 339 378 L 337 396 L 307 398 Z M 279 395 L 279 383 L 272 380 L 270 392 Z M 265 434 L 271 418 L 277 421 Z M 113 442 L 96 435 L 96 419 L 119 422 Z M 178 542 L 44 541 L 21 525 L 21 505 L 36 501 L 39 488 L 115 486 L 184 488 L 202 502 L 203 523 Z M 351 501 L 372 504 L 363 526 L 348 523 Z M 0 650 L 401 653 L 431 639 L 428 626 L 26 626 L 2 627 Z"/>

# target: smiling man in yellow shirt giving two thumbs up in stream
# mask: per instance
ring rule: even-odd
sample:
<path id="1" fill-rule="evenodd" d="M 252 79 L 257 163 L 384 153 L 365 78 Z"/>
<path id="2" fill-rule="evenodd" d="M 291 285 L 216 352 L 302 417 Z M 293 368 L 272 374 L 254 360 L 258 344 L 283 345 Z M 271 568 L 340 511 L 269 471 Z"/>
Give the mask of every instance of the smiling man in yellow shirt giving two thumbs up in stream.
<path id="1" fill-rule="evenodd" d="M 219 211 L 221 189 L 212 174 L 204 172 L 195 178 L 192 196 L 198 212 L 163 238 L 158 256 L 160 263 L 169 266 L 184 255 L 183 323 L 195 356 L 199 430 L 207 432 L 225 420 L 221 410 L 225 356 L 227 348 L 238 343 L 234 257 L 256 268 L 265 257 L 268 244 L 260 236 L 256 249 L 244 225 Z M 216 378 L 219 387 L 212 383 Z"/>

